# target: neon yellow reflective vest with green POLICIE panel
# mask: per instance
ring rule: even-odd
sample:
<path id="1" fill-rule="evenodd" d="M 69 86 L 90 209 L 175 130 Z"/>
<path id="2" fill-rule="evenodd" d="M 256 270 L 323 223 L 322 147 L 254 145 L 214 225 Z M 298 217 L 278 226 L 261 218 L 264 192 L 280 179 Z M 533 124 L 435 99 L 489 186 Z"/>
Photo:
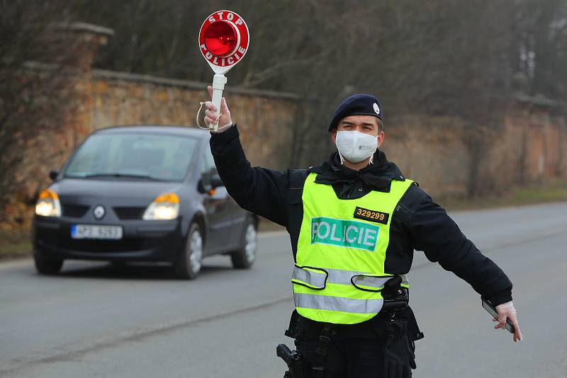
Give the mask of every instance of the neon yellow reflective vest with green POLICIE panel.
<path id="1" fill-rule="evenodd" d="M 361 323 L 382 308 L 381 289 L 393 277 L 384 272 L 392 214 L 413 181 L 393 180 L 388 193 L 340 200 L 331 185 L 315 183 L 316 176 L 309 173 L 303 185 L 293 300 L 308 319 Z"/>

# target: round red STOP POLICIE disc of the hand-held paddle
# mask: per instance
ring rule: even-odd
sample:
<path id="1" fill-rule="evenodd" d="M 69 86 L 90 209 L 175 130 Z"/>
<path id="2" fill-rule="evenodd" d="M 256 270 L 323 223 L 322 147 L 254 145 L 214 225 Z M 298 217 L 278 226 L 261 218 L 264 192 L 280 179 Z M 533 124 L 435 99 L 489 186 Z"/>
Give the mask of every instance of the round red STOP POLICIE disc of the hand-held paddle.
<path id="1" fill-rule="evenodd" d="M 249 45 L 248 27 L 237 13 L 212 13 L 199 30 L 199 47 L 210 67 L 224 74 L 244 57 Z"/>

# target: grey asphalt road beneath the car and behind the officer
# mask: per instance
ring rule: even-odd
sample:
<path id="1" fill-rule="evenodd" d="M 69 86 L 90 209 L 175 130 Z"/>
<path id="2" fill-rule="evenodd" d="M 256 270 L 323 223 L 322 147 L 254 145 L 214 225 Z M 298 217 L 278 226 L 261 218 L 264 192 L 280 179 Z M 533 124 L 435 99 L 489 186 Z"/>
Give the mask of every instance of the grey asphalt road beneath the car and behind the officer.
<path id="1" fill-rule="evenodd" d="M 452 216 L 514 282 L 524 340 L 417 252 L 415 377 L 567 377 L 567 203 Z M 73 262 L 42 277 L 30 260 L 1 264 L 0 377 L 282 377 L 291 267 L 281 233 L 261 237 L 252 270 L 215 257 L 191 282 L 164 266 Z"/>

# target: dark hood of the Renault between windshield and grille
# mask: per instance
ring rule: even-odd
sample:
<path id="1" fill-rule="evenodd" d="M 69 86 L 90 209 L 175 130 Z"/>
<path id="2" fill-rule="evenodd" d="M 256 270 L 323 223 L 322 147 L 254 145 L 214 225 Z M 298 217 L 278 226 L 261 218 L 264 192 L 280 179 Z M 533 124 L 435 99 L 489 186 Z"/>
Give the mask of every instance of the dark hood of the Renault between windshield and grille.
<path id="1" fill-rule="evenodd" d="M 65 203 L 111 202 L 123 206 L 145 206 L 163 193 L 179 193 L 182 185 L 183 183 L 163 181 L 64 178 L 53 183 L 50 188 L 55 190 Z"/>

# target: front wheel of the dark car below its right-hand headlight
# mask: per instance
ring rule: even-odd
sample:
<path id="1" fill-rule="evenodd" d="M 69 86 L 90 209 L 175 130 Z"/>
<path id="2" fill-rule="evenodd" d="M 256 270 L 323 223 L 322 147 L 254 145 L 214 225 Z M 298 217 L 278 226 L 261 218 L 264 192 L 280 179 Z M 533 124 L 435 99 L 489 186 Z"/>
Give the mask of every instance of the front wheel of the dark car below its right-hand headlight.
<path id="1" fill-rule="evenodd" d="M 201 227 L 193 223 L 189 228 L 185 248 L 174 263 L 175 276 L 181 280 L 197 277 L 203 264 L 203 234 Z"/>

